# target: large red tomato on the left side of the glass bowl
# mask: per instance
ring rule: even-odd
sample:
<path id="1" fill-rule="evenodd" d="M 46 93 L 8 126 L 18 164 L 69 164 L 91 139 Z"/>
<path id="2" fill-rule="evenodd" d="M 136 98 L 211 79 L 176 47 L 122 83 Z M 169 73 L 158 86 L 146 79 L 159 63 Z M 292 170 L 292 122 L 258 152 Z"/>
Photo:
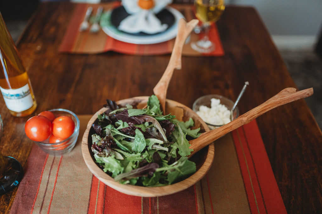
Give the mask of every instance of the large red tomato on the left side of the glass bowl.
<path id="1" fill-rule="evenodd" d="M 27 120 L 24 131 L 33 141 L 44 141 L 52 133 L 52 123 L 45 116 L 33 116 Z"/>

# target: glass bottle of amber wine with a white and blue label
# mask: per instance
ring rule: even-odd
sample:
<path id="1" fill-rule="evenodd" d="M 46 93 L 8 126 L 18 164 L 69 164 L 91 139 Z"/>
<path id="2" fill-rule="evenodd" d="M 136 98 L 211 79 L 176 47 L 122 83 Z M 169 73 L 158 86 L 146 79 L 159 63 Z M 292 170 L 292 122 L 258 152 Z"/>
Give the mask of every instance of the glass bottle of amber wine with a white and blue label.
<path id="1" fill-rule="evenodd" d="M 30 115 L 37 107 L 28 74 L 0 13 L 0 90 L 11 115 Z"/>

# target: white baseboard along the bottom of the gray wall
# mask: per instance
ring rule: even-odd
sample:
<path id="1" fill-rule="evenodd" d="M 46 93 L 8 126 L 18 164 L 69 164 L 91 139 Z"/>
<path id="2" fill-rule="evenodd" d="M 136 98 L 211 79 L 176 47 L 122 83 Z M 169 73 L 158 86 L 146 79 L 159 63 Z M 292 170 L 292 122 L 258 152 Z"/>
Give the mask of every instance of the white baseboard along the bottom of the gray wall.
<path id="1" fill-rule="evenodd" d="M 272 35 L 276 47 L 280 50 L 314 50 L 315 36 Z"/>

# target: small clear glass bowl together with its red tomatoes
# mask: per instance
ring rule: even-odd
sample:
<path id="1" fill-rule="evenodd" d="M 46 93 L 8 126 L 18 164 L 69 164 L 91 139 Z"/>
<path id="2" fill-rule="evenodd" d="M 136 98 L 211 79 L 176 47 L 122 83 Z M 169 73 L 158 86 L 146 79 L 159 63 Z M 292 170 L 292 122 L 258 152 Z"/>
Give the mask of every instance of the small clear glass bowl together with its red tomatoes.
<path id="1" fill-rule="evenodd" d="M 27 137 L 50 155 L 70 152 L 76 144 L 79 129 L 78 117 L 62 108 L 43 111 L 25 124 Z"/>

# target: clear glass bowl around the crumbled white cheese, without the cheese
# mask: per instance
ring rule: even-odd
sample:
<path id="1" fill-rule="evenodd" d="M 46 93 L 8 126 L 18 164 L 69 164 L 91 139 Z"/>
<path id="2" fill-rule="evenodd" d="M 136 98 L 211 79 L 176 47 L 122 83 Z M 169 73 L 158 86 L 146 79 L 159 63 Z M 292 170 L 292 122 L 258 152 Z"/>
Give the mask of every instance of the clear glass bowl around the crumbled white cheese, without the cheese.
<path id="1" fill-rule="evenodd" d="M 206 106 L 206 107 L 211 107 L 211 99 L 212 98 L 215 98 L 215 99 L 219 99 L 220 100 L 220 104 L 224 105 L 227 107 L 228 110 L 232 110 L 232 107 L 234 106 L 234 102 L 228 98 L 225 98 L 221 95 L 217 95 L 217 94 L 209 94 L 209 95 L 204 95 L 198 99 L 196 99 L 194 101 L 194 104 L 192 106 L 192 110 L 194 110 L 194 112 L 197 113 L 197 111 L 199 111 L 199 107 L 200 106 Z M 238 116 L 239 116 L 239 109 L 238 107 L 236 106 L 234 111 L 232 112 L 232 116 L 233 116 L 233 120 L 236 119 Z M 210 124 L 210 123 L 207 123 L 206 121 L 204 121 L 210 130 L 213 130 L 215 128 L 218 128 L 224 124 Z"/>

